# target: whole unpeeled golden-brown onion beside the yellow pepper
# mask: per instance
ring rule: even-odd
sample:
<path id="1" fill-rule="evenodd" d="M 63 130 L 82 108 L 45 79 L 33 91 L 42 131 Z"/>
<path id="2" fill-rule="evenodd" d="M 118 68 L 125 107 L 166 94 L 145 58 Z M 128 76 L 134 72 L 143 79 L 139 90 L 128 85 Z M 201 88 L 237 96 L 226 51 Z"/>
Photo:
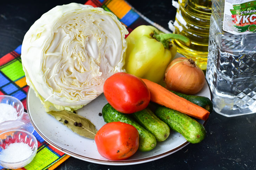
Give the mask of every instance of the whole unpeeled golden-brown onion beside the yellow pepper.
<path id="1" fill-rule="evenodd" d="M 176 58 L 168 65 L 164 82 L 166 88 L 187 95 L 199 92 L 205 83 L 205 76 L 200 67 L 191 58 Z"/>

